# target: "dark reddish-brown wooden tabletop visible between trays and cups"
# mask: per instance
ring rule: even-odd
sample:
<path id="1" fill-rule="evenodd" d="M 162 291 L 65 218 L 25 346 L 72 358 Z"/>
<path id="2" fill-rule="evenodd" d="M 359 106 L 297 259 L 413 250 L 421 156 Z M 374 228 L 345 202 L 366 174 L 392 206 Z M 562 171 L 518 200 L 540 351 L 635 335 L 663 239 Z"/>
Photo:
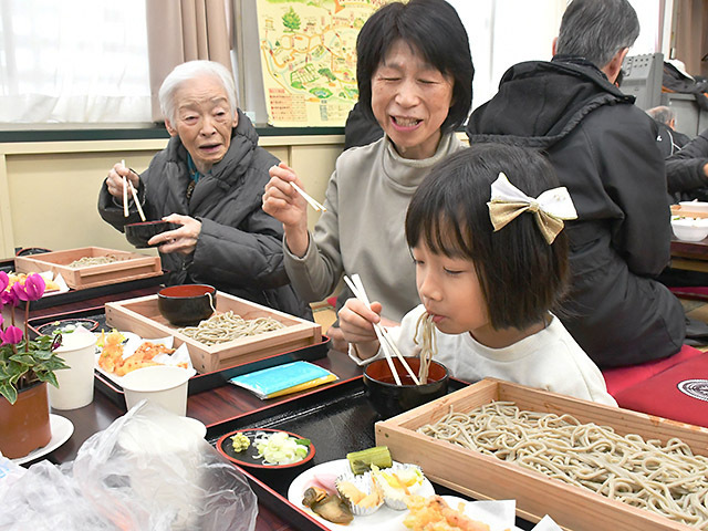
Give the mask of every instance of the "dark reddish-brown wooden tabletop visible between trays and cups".
<path id="1" fill-rule="evenodd" d="M 159 287 L 145 288 L 132 292 L 116 293 L 72 304 L 31 311 L 30 316 L 38 317 L 75 312 L 85 308 L 100 306 L 110 301 L 153 294 L 156 293 Z M 313 363 L 327 368 L 342 379 L 351 378 L 362 373 L 361 367 L 352 363 L 346 354 L 336 351 L 330 351 L 326 357 Z M 292 395 L 290 397 L 292 397 Z M 223 385 L 189 396 L 187 400 L 187 416 L 196 418 L 209 426 L 287 398 L 289 397 L 264 402 L 240 387 Z M 52 413 L 70 419 L 74 425 L 74 433 L 71 438 L 61 447 L 41 458 L 46 458 L 54 464 L 59 464 L 73 460 L 76 457 L 79 448 L 88 437 L 107 428 L 113 420 L 125 414 L 125 409 L 115 405 L 100 391 L 96 391 L 92 404 L 79 409 L 52 410 Z M 27 464 L 27 466 L 30 465 L 31 462 Z M 257 531 L 283 531 L 292 529 L 295 528 L 259 503 L 259 514 L 256 523 Z"/>

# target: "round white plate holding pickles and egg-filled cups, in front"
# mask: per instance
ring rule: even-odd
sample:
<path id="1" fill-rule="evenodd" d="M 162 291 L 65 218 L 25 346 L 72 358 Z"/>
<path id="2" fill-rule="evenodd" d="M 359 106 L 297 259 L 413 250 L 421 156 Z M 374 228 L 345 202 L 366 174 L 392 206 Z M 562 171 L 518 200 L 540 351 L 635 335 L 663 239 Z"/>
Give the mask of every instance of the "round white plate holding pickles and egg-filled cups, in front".
<path id="1" fill-rule="evenodd" d="M 292 483 L 290 483 L 290 488 L 288 489 L 288 500 L 290 502 L 306 511 L 312 516 L 315 520 L 324 524 L 327 529 L 332 529 L 335 531 L 407 531 L 406 527 L 403 524 L 408 511 L 395 511 L 387 506 L 382 506 L 373 514 L 367 517 L 354 517 L 352 523 L 348 525 L 341 525 L 339 523 L 332 523 L 327 520 L 320 518 L 316 516 L 310 508 L 306 508 L 302 504 L 302 493 L 310 487 L 312 482 L 312 478 L 319 473 L 332 476 L 332 475 L 341 475 L 344 472 L 350 472 L 350 461 L 346 459 L 337 459 L 335 461 L 322 462 L 315 467 L 309 468 L 300 476 L 298 476 Z M 419 492 L 420 496 L 433 496 L 435 494 L 435 489 L 433 485 L 427 479 L 423 483 L 423 488 Z"/>

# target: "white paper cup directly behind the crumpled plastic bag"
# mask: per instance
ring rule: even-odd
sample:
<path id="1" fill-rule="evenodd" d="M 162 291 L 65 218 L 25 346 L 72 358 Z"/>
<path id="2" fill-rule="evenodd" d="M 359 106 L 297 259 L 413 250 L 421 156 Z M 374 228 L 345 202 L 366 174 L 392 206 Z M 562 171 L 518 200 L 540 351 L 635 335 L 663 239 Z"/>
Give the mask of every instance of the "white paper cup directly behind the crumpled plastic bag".
<path id="1" fill-rule="evenodd" d="M 197 372 L 174 365 L 154 365 L 133 371 L 123 376 L 125 404 L 128 409 L 143 398 L 174 413 L 187 414 L 187 382 Z"/>

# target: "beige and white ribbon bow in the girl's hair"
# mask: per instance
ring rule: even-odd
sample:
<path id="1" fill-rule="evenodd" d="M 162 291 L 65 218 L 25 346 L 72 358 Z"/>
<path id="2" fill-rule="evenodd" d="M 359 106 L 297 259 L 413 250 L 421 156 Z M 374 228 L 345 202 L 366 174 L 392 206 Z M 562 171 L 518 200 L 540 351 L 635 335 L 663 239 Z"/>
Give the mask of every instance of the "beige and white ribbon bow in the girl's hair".
<path id="1" fill-rule="evenodd" d="M 564 219 L 577 219 L 575 206 L 564 186 L 546 190 L 534 199 L 509 183 L 503 173 L 491 184 L 491 200 L 487 206 L 494 232 L 517 216 L 527 211 L 533 212 L 535 222 L 549 244 L 553 243 L 563 230 Z"/>

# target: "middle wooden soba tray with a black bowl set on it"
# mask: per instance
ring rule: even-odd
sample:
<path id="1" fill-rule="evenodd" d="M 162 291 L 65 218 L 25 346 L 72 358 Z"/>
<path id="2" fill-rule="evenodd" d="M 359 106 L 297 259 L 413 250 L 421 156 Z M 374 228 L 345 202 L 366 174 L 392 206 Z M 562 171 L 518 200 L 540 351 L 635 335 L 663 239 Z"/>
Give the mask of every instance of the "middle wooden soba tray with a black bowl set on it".
<path id="1" fill-rule="evenodd" d="M 270 316 L 283 323 L 285 327 L 209 346 L 179 333 L 176 326 L 169 324 L 159 313 L 157 295 L 107 302 L 105 306 L 106 322 L 111 326 L 134 332 L 145 339 L 173 335 L 175 347 L 187 343 L 191 363 L 199 373 L 250 363 L 322 342 L 322 327 L 316 323 L 220 292 L 217 293 L 217 312 L 225 313 L 231 310 L 246 320 Z"/>

